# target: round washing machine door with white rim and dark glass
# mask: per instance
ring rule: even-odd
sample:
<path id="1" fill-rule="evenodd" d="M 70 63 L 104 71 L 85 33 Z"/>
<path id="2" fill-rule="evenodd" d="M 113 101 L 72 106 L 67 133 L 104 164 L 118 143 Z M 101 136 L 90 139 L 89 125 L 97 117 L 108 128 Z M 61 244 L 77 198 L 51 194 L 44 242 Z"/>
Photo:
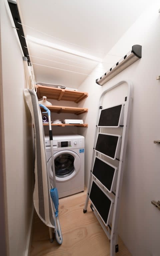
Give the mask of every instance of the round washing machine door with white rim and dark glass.
<path id="1" fill-rule="evenodd" d="M 63 182 L 72 179 L 80 170 L 79 156 L 71 150 L 62 150 L 54 154 L 56 180 Z M 52 158 L 48 160 L 49 176 L 53 179 Z"/>

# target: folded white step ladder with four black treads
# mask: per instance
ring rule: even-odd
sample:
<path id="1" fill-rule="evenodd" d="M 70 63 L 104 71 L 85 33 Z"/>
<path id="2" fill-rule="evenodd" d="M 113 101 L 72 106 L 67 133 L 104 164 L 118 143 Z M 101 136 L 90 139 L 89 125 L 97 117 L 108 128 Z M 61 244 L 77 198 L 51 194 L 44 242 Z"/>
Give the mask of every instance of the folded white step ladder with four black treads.
<path id="1" fill-rule="evenodd" d="M 128 93 L 124 103 L 103 109 L 104 95 L 123 83 L 128 85 Z M 84 213 L 87 212 L 90 199 L 91 209 L 110 240 L 110 256 L 115 256 L 115 253 L 118 252 L 118 216 L 131 101 L 132 84 L 127 81 L 121 81 L 110 86 L 100 97 L 91 172 L 83 210 Z M 121 127 L 121 135 L 116 134 L 116 128 L 119 127 Z M 114 128 L 115 133 L 103 133 L 101 132 L 103 128 Z M 108 160 L 106 161 L 106 159 Z M 117 164 L 115 163 L 114 166 L 109 159 L 112 159 L 113 163 L 117 162 Z"/>

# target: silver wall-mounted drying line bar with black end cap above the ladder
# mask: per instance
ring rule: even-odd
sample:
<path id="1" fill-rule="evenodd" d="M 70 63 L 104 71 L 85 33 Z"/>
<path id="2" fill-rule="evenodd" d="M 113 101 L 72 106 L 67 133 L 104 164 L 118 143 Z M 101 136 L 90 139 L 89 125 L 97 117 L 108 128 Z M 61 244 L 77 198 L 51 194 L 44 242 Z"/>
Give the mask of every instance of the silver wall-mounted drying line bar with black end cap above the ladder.
<path id="1" fill-rule="evenodd" d="M 121 58 L 113 67 L 111 67 L 103 76 L 96 79 L 96 83 L 99 85 L 105 84 L 112 77 L 116 76 L 122 70 L 130 66 L 135 61 L 142 57 L 142 46 L 133 45 L 132 50 L 128 52 L 123 58 Z"/>

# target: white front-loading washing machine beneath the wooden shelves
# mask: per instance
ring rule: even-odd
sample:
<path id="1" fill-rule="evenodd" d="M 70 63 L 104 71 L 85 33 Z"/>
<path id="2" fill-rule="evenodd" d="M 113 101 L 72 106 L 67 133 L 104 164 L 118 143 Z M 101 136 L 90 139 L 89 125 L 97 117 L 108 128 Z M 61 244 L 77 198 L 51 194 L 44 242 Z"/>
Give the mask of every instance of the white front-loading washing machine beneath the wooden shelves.
<path id="1" fill-rule="evenodd" d="M 45 136 L 49 177 L 53 179 L 49 136 Z M 56 187 L 59 198 L 84 191 L 84 137 L 53 136 Z"/>

